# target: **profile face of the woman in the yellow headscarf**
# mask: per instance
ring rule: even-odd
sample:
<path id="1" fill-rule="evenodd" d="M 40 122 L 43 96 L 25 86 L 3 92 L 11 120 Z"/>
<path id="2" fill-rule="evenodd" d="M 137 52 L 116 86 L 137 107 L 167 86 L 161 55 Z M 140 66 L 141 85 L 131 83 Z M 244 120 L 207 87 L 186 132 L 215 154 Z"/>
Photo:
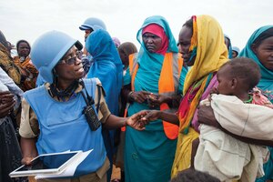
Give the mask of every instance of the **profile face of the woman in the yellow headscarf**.
<path id="1" fill-rule="evenodd" d="M 192 61 L 189 60 L 192 53 L 192 52 L 189 52 L 191 36 L 192 36 L 191 28 L 184 25 L 182 29 L 180 30 L 179 37 L 178 37 L 178 50 L 179 50 L 179 53 L 182 54 L 184 62 L 186 63 L 187 66 L 193 66 L 196 59 L 195 57 L 193 57 L 191 59 Z"/>

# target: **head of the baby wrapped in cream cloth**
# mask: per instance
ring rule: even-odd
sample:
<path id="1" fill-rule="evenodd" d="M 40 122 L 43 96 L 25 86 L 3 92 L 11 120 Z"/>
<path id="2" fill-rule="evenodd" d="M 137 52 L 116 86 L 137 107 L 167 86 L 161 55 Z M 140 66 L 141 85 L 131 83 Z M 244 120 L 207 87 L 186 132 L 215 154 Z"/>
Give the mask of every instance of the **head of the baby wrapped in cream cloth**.
<path id="1" fill-rule="evenodd" d="M 238 96 L 248 94 L 258 85 L 260 79 L 258 65 L 247 57 L 231 59 L 217 71 L 217 94 Z"/>

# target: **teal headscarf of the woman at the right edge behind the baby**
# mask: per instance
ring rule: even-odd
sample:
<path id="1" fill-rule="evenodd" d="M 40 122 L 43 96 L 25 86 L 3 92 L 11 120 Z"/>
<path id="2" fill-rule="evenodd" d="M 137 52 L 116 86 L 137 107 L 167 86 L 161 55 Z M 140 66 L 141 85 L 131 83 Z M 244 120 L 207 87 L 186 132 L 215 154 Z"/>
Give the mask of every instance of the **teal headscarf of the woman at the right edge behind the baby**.
<path id="1" fill-rule="evenodd" d="M 239 53 L 238 56 L 245 56 L 248 58 L 253 59 L 259 66 L 260 72 L 261 72 L 261 79 L 258 83 L 258 87 L 262 90 L 273 90 L 273 71 L 268 70 L 265 66 L 263 66 L 259 60 L 258 57 L 255 55 L 255 53 L 251 49 L 251 45 L 257 40 L 259 35 L 267 31 L 269 28 L 272 28 L 273 25 L 266 25 L 258 28 L 248 39 L 248 43 L 245 46 L 245 48 Z"/>

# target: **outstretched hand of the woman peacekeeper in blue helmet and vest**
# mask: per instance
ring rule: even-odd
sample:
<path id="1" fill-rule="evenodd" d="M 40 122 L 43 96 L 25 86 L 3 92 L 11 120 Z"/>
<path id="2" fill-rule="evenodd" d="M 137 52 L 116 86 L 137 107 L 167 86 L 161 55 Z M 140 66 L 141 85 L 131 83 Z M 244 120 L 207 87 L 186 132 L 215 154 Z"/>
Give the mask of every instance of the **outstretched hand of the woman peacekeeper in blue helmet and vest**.
<path id="1" fill-rule="evenodd" d="M 140 111 L 140 112 L 134 114 L 133 116 L 128 117 L 128 119 L 126 120 L 126 125 L 131 126 L 139 131 L 144 130 L 146 128 L 145 126 L 148 124 L 148 122 L 142 121 L 141 118 L 146 115 L 147 115 L 146 110 Z"/>

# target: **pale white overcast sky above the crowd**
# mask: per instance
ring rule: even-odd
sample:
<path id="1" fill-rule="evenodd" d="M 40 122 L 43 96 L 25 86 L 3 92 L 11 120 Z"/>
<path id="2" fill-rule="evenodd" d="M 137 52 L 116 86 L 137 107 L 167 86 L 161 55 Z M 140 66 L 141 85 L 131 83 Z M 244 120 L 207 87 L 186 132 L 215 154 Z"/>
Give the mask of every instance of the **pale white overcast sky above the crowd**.
<path id="1" fill-rule="evenodd" d="M 147 16 L 167 18 L 177 39 L 191 15 L 212 15 L 222 25 L 232 45 L 240 49 L 261 25 L 273 25 L 271 0 L 0 0 L 1 30 L 14 45 L 31 44 L 49 30 L 59 30 L 84 43 L 78 29 L 87 17 L 101 18 L 112 36 L 139 47 L 136 32 Z"/>

